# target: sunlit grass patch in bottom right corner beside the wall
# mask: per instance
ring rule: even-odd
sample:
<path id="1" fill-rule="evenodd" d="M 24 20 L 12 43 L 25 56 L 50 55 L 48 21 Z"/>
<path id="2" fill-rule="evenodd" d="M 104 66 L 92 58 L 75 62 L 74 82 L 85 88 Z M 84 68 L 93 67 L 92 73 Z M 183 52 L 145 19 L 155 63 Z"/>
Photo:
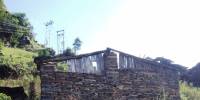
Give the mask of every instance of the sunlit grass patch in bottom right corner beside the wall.
<path id="1" fill-rule="evenodd" d="M 187 84 L 186 82 L 180 82 L 179 86 L 181 100 L 200 99 L 200 88 L 193 87 L 191 84 Z"/>

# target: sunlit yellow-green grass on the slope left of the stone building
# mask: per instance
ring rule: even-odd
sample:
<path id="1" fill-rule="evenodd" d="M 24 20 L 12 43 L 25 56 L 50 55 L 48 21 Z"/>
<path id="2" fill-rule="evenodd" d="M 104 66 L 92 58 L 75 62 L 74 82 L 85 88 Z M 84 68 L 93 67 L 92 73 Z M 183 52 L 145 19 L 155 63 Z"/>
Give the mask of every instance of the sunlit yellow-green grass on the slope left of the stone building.
<path id="1" fill-rule="evenodd" d="M 7 65 L 14 69 L 20 76 L 17 79 L 0 80 L 2 87 L 20 87 L 22 86 L 25 93 L 29 95 L 30 83 L 35 83 L 35 95 L 40 97 L 40 78 L 39 76 L 33 77 L 36 71 L 36 64 L 34 57 L 38 56 L 37 53 L 25 51 L 19 48 L 2 47 L 2 55 L 0 55 L 0 64 Z"/>

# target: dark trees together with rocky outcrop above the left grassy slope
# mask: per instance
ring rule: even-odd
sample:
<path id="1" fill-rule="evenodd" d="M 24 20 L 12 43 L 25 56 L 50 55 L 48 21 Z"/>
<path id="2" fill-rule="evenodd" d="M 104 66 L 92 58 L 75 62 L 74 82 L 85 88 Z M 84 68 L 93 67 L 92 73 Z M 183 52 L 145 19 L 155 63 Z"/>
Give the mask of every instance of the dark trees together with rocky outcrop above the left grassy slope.
<path id="1" fill-rule="evenodd" d="M 0 39 L 4 43 L 26 50 L 40 49 L 42 46 L 34 41 L 32 30 L 25 13 L 10 13 L 0 0 Z"/>

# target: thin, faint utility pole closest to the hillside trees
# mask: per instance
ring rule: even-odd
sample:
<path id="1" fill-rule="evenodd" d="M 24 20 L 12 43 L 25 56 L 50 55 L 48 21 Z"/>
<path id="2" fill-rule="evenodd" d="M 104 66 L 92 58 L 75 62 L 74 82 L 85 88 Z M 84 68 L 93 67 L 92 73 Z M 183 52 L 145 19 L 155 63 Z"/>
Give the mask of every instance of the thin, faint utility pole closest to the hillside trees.
<path id="1" fill-rule="evenodd" d="M 45 47 L 51 47 L 51 42 L 50 42 L 50 40 L 51 40 L 51 28 L 52 27 L 50 27 L 50 26 L 52 26 L 53 25 L 53 21 L 52 20 L 50 20 L 49 22 L 46 22 L 45 23 L 45 26 L 46 26 L 46 33 L 45 33 Z"/>

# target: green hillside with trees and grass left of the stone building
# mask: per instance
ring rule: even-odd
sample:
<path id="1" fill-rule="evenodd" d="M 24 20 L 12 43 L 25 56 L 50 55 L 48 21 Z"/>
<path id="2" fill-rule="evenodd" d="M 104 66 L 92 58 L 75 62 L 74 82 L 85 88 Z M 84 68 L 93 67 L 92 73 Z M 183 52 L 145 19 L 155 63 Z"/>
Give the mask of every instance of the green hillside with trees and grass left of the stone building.
<path id="1" fill-rule="evenodd" d="M 26 14 L 10 13 L 0 0 L 0 87 L 23 87 L 26 95 L 39 99 L 40 78 L 34 58 L 45 48 L 32 33 Z"/>

